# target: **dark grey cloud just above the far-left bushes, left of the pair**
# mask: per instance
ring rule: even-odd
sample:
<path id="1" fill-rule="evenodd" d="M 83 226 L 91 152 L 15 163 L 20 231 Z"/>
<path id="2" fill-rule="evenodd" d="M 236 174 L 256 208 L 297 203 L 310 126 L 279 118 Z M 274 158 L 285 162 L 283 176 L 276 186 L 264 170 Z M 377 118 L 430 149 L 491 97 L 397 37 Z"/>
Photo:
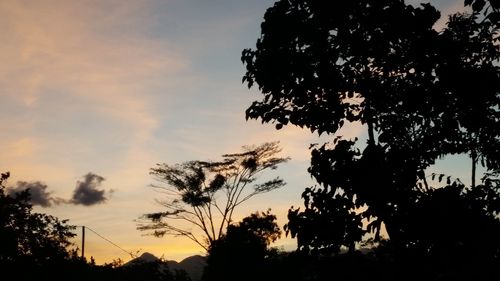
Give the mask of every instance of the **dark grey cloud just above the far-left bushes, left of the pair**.
<path id="1" fill-rule="evenodd" d="M 51 193 L 47 191 L 46 184 L 39 181 L 35 182 L 18 181 L 16 186 L 9 187 L 7 189 L 7 194 L 12 196 L 18 192 L 23 192 L 26 189 L 29 189 L 29 193 L 31 196 L 30 202 L 33 205 L 50 207 L 52 206 L 52 203 L 58 204 L 61 202 L 61 199 L 53 198 L 50 195 Z"/>

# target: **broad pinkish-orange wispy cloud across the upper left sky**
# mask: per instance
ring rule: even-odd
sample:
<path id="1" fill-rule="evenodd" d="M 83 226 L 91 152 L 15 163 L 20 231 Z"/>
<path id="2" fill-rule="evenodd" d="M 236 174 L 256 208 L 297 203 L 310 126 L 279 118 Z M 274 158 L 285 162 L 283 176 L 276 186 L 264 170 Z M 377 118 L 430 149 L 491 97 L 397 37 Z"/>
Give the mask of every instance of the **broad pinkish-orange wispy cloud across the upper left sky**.
<path id="1" fill-rule="evenodd" d="M 0 1 L 1 168 L 23 166 L 13 175 L 24 176 L 71 167 L 74 176 L 148 158 L 158 99 L 168 104 L 163 91 L 189 79 L 182 50 L 148 35 L 150 4 Z"/>

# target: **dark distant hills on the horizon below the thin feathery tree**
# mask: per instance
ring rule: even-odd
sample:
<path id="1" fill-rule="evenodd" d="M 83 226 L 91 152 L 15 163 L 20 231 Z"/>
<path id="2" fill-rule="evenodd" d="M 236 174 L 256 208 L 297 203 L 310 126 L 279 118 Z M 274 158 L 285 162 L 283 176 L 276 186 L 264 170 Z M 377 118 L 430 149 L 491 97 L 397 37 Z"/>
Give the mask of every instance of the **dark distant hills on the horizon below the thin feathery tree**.
<path id="1" fill-rule="evenodd" d="M 151 253 L 143 253 L 140 257 L 130 260 L 123 266 L 134 266 L 135 264 L 156 262 L 160 258 L 156 257 Z M 181 262 L 165 260 L 169 270 L 174 272 L 175 270 L 184 270 L 187 272 L 192 281 L 201 280 L 203 274 L 203 269 L 206 265 L 206 258 L 200 255 L 195 255 L 183 259 Z"/>

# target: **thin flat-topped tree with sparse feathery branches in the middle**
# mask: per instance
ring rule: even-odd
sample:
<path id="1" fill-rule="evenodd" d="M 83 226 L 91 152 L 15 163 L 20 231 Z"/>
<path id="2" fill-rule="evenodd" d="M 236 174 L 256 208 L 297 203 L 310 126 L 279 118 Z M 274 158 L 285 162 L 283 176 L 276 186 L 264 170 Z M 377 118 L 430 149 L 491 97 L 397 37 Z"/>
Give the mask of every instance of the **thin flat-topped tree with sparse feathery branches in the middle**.
<path id="1" fill-rule="evenodd" d="M 138 229 L 152 231 L 155 236 L 184 236 L 208 250 L 224 235 L 239 205 L 285 185 L 278 177 L 256 183 L 263 171 L 276 169 L 288 160 L 278 157 L 279 152 L 278 143 L 270 142 L 245 146 L 241 153 L 224 154 L 220 162 L 158 164 L 151 174 L 167 184 L 155 186 L 166 195 L 158 200 L 166 211 L 145 214 Z M 188 226 L 177 224 L 179 221 L 187 222 Z"/>

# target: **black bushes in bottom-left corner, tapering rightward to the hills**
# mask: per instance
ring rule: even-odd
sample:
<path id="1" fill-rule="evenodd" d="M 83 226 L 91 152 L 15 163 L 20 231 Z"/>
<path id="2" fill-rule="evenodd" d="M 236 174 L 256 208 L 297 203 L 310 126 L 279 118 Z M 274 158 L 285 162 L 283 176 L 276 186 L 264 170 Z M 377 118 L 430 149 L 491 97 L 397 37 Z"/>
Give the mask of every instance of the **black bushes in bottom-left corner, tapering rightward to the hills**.
<path id="1" fill-rule="evenodd" d="M 162 261 L 121 266 L 95 265 L 80 258 L 70 239 L 67 220 L 34 213 L 29 190 L 8 195 L 0 177 L 0 279 L 5 280 L 123 280 L 190 281 L 185 272 L 170 272 Z"/>

